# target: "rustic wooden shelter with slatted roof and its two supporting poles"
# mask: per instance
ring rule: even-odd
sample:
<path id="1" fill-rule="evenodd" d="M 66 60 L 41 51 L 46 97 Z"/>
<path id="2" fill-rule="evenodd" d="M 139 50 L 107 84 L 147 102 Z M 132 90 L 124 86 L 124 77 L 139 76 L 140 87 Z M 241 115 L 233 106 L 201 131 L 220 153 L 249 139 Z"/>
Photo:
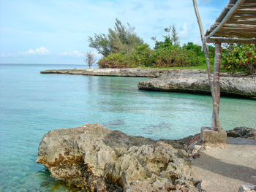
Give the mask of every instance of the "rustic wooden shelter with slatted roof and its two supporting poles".
<path id="1" fill-rule="evenodd" d="M 256 0 L 230 0 L 215 23 L 204 34 L 203 25 L 197 9 L 196 0 L 192 0 L 200 28 L 203 50 L 206 56 L 208 80 L 211 85 L 213 115 L 211 129 L 221 132 L 219 122 L 219 69 L 221 61 L 221 43 L 256 44 Z M 206 43 L 215 44 L 214 77 L 211 75 L 208 47 Z"/>

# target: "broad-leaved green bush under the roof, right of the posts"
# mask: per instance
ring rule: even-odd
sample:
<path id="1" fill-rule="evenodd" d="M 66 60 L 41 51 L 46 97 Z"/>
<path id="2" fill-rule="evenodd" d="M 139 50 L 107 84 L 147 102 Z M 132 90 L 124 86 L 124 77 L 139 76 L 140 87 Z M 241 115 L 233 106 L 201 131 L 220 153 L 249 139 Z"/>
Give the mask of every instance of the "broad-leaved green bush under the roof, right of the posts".
<path id="1" fill-rule="evenodd" d="M 242 71 L 248 74 L 256 71 L 255 45 L 227 45 L 223 51 L 224 68 L 230 72 Z"/>

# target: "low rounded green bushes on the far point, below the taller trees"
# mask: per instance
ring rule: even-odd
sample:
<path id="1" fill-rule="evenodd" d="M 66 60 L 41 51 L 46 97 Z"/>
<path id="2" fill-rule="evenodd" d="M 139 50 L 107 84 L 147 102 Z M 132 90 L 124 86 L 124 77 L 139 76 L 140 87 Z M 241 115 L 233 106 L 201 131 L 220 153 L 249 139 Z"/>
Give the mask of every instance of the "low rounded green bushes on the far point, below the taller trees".
<path id="1" fill-rule="evenodd" d="M 181 47 L 162 47 L 151 50 L 139 45 L 132 53 L 112 53 L 98 61 L 100 68 L 197 66 L 197 55 Z"/>

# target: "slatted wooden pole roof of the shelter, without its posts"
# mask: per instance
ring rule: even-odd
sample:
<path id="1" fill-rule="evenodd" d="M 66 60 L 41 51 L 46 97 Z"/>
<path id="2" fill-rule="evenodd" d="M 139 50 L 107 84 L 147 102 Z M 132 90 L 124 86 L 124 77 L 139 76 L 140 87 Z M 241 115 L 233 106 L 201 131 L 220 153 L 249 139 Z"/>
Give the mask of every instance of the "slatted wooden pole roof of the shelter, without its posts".
<path id="1" fill-rule="evenodd" d="M 256 1 L 230 0 L 205 37 L 206 42 L 255 43 Z"/>

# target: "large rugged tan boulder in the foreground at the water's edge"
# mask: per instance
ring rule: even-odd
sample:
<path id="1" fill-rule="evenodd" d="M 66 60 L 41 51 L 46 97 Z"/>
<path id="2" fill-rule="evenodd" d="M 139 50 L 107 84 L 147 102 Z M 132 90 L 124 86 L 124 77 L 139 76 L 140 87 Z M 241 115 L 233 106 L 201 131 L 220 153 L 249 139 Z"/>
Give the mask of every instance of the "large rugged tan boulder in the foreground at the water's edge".
<path id="1" fill-rule="evenodd" d="M 189 155 L 175 143 L 85 124 L 45 134 L 37 163 L 57 180 L 93 191 L 199 191 Z"/>

